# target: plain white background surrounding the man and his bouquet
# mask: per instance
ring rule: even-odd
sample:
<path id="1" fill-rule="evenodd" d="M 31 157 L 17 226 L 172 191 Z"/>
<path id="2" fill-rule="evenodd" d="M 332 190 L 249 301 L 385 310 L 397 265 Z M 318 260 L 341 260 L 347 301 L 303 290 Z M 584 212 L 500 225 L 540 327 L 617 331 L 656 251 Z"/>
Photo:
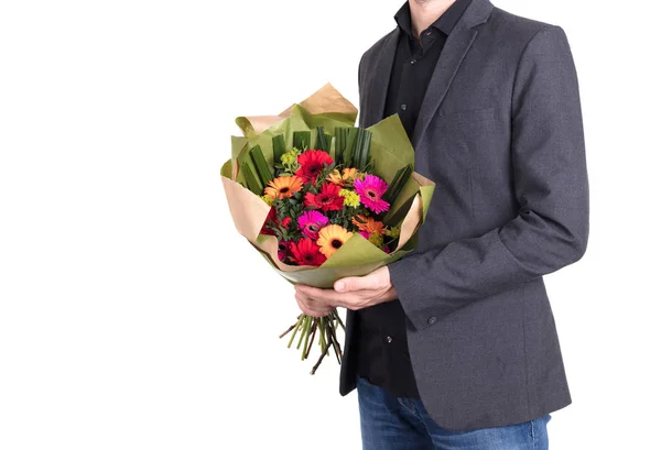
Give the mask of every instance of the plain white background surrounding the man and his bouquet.
<path id="1" fill-rule="evenodd" d="M 339 367 L 278 340 L 292 288 L 218 172 L 237 116 L 326 81 L 357 103 L 401 2 L 0 2 L 0 449 L 360 448 Z M 574 398 L 551 448 L 661 448 L 657 18 L 496 4 L 562 25 L 582 88 L 590 240 L 546 278 Z"/>

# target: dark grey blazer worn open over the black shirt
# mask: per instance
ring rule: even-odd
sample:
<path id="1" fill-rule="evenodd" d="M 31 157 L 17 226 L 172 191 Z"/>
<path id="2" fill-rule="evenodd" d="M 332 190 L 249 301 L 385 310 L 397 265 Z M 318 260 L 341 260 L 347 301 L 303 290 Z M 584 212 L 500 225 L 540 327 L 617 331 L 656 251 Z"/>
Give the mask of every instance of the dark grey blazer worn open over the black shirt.
<path id="1" fill-rule="evenodd" d="M 359 66 L 360 125 L 383 118 L 399 31 Z M 542 276 L 579 260 L 588 180 L 578 83 L 559 26 L 473 0 L 448 36 L 413 133 L 436 183 L 420 244 L 391 264 L 418 388 L 449 430 L 568 405 Z M 356 386 L 347 314 L 340 394 Z"/>

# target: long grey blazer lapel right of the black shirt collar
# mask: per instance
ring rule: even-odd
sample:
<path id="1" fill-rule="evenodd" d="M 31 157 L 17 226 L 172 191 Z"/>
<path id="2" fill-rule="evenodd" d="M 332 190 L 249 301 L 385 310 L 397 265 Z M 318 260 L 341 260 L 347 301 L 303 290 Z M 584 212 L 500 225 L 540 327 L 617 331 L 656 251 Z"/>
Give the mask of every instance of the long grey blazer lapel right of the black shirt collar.
<path id="1" fill-rule="evenodd" d="M 452 81 L 462 66 L 462 62 L 475 42 L 478 34 L 475 26 L 485 23 L 492 9 L 494 6 L 488 0 L 473 0 L 455 29 L 447 36 L 445 47 L 441 52 L 420 108 L 412 136 L 413 147 L 416 147 L 420 143 L 420 139 L 430 125 L 434 113 L 445 99 Z"/>

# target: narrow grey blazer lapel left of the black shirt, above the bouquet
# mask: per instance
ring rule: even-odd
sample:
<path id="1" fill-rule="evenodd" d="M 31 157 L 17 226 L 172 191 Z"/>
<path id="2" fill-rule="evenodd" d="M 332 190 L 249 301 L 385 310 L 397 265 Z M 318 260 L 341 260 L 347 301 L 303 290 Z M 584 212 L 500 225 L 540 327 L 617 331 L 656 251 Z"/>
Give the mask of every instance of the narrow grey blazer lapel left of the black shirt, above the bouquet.
<path id="1" fill-rule="evenodd" d="M 367 128 L 383 119 L 386 110 L 386 96 L 390 85 L 390 73 L 392 72 L 392 63 L 397 52 L 399 42 L 399 29 L 395 29 L 389 36 L 386 37 L 381 52 L 375 63 L 370 78 L 366 81 L 367 89 L 367 113 L 361 120 L 361 124 Z"/>

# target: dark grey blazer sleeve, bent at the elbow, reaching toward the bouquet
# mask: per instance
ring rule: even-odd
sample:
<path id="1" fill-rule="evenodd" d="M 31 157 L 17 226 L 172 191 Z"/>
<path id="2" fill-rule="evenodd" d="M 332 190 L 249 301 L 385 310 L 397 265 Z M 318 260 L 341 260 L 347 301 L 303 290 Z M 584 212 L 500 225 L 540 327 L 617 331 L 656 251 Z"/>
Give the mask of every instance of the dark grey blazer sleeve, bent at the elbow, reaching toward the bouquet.
<path id="1" fill-rule="evenodd" d="M 502 227 L 389 265 L 416 329 L 578 261 L 588 238 L 588 179 L 578 81 L 564 31 L 539 31 L 512 92 L 511 158 L 518 216 Z"/>

